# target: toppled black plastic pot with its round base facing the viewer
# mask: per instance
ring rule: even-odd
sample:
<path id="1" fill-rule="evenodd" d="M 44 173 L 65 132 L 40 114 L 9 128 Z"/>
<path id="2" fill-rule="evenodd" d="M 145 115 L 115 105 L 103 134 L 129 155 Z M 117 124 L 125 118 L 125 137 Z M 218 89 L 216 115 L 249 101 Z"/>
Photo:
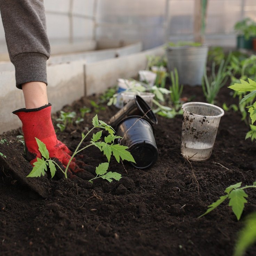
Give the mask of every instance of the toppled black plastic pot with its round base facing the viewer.
<path id="1" fill-rule="evenodd" d="M 153 126 L 146 118 L 130 116 L 123 119 L 116 135 L 121 136 L 120 145 L 127 146 L 136 163 L 131 163 L 135 168 L 146 169 L 158 159 L 158 150 L 155 143 Z"/>

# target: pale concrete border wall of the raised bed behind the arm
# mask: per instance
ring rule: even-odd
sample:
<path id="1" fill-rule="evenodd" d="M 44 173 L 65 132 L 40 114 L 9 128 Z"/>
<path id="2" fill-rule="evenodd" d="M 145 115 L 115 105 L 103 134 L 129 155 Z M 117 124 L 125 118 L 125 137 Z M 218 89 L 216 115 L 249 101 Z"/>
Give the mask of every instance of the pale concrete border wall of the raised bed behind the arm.
<path id="1" fill-rule="evenodd" d="M 145 69 L 147 55 L 163 55 L 163 46 L 141 51 L 142 43 L 115 49 L 88 51 L 50 57 L 47 66 L 48 98 L 52 111 L 84 95 L 98 94 L 116 85 L 118 78 L 136 77 Z M 21 126 L 12 111 L 24 107 L 21 90 L 15 87 L 15 71 L 10 62 L 0 63 L 0 134 Z"/>

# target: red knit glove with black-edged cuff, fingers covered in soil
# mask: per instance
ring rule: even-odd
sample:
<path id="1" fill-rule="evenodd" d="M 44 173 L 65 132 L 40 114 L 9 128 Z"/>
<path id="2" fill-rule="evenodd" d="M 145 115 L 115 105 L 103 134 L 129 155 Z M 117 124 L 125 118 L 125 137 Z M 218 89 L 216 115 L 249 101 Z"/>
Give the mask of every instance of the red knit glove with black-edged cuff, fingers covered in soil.
<path id="1" fill-rule="evenodd" d="M 30 161 L 31 165 L 37 161 L 37 158 L 41 158 L 41 153 L 35 140 L 36 137 L 46 145 L 50 158 L 57 158 L 66 167 L 72 152 L 56 137 L 51 120 L 51 104 L 49 103 L 37 109 L 19 109 L 13 113 L 22 121 L 27 160 Z M 72 159 L 69 168 L 73 174 L 80 174 L 86 169 L 91 170 L 94 168 L 85 163 L 79 163 L 79 166 L 76 165 L 75 159 Z"/>

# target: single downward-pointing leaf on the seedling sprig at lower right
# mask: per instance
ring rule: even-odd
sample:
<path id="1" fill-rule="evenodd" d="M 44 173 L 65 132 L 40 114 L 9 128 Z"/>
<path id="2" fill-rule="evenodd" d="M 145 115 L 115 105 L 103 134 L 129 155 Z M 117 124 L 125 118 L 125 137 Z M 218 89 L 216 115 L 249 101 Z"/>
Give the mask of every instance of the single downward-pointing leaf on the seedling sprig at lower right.
<path id="1" fill-rule="evenodd" d="M 234 189 L 229 193 L 229 206 L 231 206 L 238 221 L 242 215 L 243 209 L 245 208 L 245 203 L 247 203 L 247 200 L 245 199 L 246 197 L 248 197 L 248 195 L 243 189 Z"/>

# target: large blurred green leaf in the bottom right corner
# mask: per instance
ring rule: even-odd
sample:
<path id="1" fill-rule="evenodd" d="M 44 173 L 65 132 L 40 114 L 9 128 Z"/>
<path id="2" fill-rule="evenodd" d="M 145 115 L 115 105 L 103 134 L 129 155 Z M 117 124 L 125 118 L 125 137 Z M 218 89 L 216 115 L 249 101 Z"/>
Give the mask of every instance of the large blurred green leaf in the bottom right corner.
<path id="1" fill-rule="evenodd" d="M 244 255 L 246 249 L 256 242 L 256 213 L 251 214 L 245 227 L 239 232 L 239 238 L 234 250 L 234 256 Z"/>

